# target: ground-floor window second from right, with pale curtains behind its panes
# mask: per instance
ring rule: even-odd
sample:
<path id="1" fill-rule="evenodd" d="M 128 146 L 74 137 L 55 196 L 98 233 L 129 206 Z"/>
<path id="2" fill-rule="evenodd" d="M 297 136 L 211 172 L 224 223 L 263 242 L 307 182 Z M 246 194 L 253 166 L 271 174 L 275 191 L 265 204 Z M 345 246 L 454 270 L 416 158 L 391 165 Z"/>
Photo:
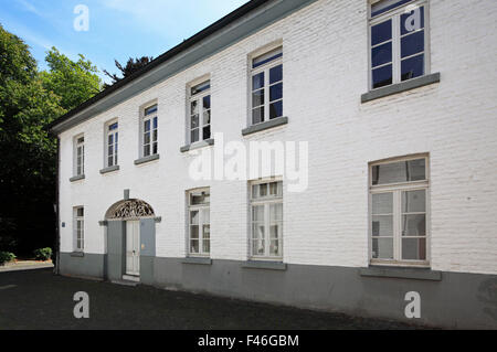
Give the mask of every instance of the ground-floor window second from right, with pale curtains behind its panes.
<path id="1" fill-rule="evenodd" d="M 251 257 L 283 258 L 283 182 L 251 184 Z"/>

